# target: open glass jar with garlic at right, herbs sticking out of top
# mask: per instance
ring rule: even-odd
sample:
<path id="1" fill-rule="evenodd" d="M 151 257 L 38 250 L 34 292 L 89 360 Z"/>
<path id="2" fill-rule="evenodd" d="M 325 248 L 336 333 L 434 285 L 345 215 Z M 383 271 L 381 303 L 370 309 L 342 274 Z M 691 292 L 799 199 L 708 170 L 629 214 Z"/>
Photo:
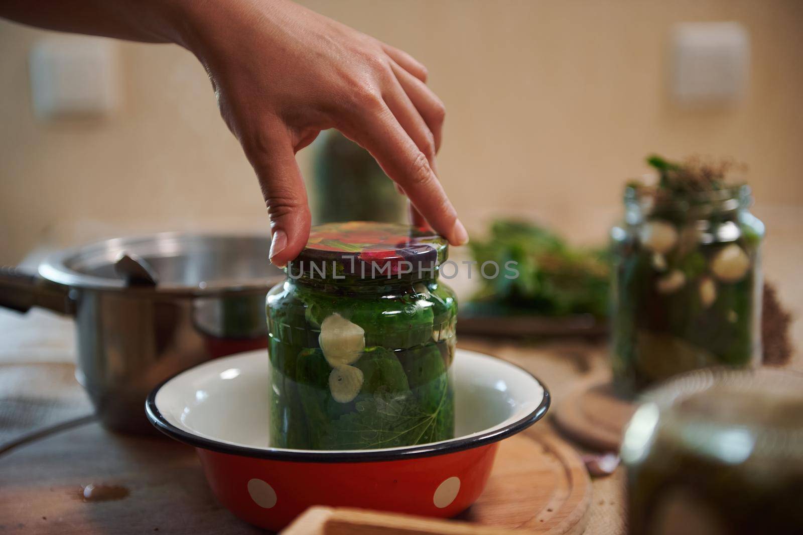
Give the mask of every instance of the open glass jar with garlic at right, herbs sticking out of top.
<path id="1" fill-rule="evenodd" d="M 760 362 L 764 225 L 748 186 L 625 193 L 613 227 L 612 364 L 626 393 L 705 366 Z"/>

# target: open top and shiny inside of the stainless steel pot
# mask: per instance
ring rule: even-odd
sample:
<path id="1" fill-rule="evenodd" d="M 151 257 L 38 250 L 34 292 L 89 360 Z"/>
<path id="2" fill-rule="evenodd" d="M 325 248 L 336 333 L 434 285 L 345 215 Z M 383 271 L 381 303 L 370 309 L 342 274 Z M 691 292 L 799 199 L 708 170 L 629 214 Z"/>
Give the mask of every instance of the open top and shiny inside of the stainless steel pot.
<path id="1" fill-rule="evenodd" d="M 192 294 L 263 290 L 283 278 L 268 260 L 270 248 L 267 233 L 165 232 L 56 252 L 39 264 L 39 275 L 65 286 L 104 290 Z M 141 260 L 157 284 L 132 284 L 136 266 L 121 269 L 118 264 L 126 256 Z"/>

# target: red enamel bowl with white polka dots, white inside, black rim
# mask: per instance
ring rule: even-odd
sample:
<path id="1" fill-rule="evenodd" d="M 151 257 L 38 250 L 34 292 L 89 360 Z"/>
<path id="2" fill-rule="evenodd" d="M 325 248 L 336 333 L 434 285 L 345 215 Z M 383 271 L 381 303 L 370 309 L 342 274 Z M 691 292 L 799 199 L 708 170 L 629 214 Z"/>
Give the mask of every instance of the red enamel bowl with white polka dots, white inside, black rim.
<path id="1" fill-rule="evenodd" d="M 160 431 L 196 447 L 218 500 L 251 524 L 279 530 L 312 505 L 452 517 L 479 497 L 499 440 L 544 416 L 549 393 L 507 361 L 457 349 L 455 435 L 376 450 L 269 447 L 264 350 L 204 362 L 145 403 Z"/>

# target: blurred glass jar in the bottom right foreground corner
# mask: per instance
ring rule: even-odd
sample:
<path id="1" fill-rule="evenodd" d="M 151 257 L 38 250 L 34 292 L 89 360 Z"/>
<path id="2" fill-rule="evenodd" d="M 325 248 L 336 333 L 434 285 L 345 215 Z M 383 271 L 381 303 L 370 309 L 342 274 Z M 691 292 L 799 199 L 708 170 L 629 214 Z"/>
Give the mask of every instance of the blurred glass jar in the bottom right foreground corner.
<path id="1" fill-rule="evenodd" d="M 646 394 L 622 441 L 632 535 L 801 533 L 803 376 L 699 370 Z"/>

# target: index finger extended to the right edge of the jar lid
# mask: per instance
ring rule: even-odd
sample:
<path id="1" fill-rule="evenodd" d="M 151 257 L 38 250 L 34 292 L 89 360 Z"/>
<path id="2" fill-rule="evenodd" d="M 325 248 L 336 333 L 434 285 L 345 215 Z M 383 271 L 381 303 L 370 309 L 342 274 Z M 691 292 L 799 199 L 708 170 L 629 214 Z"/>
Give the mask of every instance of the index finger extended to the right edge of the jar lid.
<path id="1" fill-rule="evenodd" d="M 468 234 L 457 218 L 435 176 L 426 154 L 410 138 L 389 109 L 362 116 L 341 129 L 346 136 L 368 149 L 381 168 L 404 188 L 426 221 L 452 245 L 467 243 Z"/>

